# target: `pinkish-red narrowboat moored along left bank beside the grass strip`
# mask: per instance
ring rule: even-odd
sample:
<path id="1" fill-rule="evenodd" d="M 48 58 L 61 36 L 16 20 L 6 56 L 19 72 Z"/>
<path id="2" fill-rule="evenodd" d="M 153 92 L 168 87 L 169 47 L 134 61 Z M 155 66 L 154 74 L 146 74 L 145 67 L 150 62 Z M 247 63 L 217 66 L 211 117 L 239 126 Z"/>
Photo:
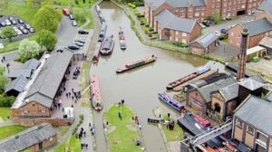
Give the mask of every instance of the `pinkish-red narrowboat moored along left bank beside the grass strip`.
<path id="1" fill-rule="evenodd" d="M 92 75 L 90 81 L 91 81 L 92 108 L 97 111 L 100 111 L 102 110 L 102 99 L 98 77 L 96 75 Z"/>

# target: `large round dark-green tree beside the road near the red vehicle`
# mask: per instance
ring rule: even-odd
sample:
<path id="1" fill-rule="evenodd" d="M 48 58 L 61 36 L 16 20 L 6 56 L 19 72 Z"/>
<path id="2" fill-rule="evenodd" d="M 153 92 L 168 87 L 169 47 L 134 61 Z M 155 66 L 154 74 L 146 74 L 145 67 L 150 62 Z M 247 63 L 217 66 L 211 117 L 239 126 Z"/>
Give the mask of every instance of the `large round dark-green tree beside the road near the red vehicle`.
<path id="1" fill-rule="evenodd" d="M 46 7 L 41 7 L 39 11 L 34 14 L 34 28 L 37 31 L 48 30 L 54 32 L 57 29 L 59 19 Z"/>

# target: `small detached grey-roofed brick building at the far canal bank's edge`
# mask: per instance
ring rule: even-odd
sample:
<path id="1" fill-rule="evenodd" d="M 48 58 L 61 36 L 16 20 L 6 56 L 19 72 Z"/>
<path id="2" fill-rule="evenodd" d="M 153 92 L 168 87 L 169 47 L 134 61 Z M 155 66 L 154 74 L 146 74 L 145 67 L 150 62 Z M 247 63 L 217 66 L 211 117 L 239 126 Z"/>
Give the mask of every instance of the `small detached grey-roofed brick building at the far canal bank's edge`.
<path id="1" fill-rule="evenodd" d="M 193 54 L 203 55 L 214 48 L 219 44 L 219 36 L 215 33 L 205 33 L 200 36 L 193 42 L 189 43 L 189 52 Z"/>

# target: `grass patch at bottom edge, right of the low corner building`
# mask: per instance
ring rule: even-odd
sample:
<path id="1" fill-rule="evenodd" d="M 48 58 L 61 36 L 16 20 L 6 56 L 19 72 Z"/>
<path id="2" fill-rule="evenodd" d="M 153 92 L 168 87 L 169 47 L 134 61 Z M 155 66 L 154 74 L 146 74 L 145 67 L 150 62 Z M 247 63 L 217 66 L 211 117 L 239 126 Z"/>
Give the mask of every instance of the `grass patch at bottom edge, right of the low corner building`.
<path id="1" fill-rule="evenodd" d="M 81 141 L 79 138 L 71 136 L 65 140 L 62 144 L 54 148 L 54 152 L 63 152 L 63 151 L 72 151 L 72 152 L 81 152 Z"/>

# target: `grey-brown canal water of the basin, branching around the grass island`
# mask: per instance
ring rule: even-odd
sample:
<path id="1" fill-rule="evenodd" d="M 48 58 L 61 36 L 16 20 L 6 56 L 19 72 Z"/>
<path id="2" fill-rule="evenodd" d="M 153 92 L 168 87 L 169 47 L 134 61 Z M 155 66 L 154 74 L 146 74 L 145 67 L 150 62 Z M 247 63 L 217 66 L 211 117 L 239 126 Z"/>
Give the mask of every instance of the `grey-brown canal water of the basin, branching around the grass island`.
<path id="1" fill-rule="evenodd" d="M 99 76 L 102 90 L 103 109 L 94 112 L 95 138 L 99 152 L 106 151 L 102 113 L 109 106 L 120 100 L 133 109 L 140 118 L 144 143 L 149 152 L 166 151 L 160 130 L 149 125 L 147 118 L 154 118 L 152 109 L 161 107 L 171 116 L 179 117 L 179 113 L 158 99 L 158 92 L 164 91 L 170 81 L 177 80 L 203 65 L 224 71 L 224 65 L 210 62 L 196 56 L 170 52 L 142 44 L 131 30 L 129 18 L 117 5 L 102 2 L 102 14 L 108 24 L 107 35 L 114 35 L 115 46 L 111 56 L 102 57 L 98 65 L 93 65 L 90 74 Z M 121 51 L 118 41 L 119 27 L 122 27 L 126 38 L 127 50 Z M 158 57 L 156 62 L 141 68 L 117 74 L 115 71 L 126 63 L 134 62 L 152 54 Z M 116 114 L 117 117 L 117 114 Z"/>

